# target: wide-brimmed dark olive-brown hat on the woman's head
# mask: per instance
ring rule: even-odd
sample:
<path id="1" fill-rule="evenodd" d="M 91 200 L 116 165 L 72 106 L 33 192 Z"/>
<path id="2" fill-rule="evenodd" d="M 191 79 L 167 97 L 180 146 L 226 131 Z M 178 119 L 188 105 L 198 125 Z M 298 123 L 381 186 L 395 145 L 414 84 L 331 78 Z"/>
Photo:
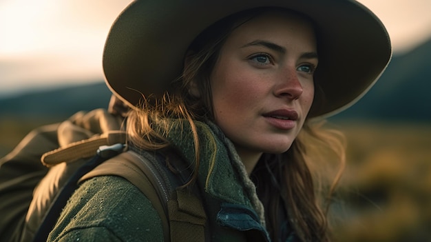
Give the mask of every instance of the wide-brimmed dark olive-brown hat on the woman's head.
<path id="1" fill-rule="evenodd" d="M 142 94 L 161 97 L 182 74 L 185 52 L 212 23 L 236 12 L 279 7 L 310 17 L 319 33 L 319 67 L 310 117 L 352 105 L 377 81 L 392 57 L 388 32 L 353 0 L 138 0 L 114 22 L 103 54 L 107 85 L 136 106 Z"/>

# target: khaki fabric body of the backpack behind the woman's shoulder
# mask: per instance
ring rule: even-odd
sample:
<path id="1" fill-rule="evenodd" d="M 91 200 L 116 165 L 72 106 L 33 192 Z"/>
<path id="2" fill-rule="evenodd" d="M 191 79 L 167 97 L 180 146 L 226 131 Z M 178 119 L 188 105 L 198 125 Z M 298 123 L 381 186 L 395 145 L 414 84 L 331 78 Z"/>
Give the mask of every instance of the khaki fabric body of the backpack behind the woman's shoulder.
<path id="1" fill-rule="evenodd" d="M 62 151 L 73 143 L 98 139 L 103 133 L 120 130 L 122 123 L 123 117 L 103 109 L 77 112 L 62 123 L 30 132 L 17 148 L 1 159 L 0 214 L 5 219 L 0 221 L 0 241 L 31 241 L 50 201 L 65 183 L 65 177 L 85 161 L 85 156 L 96 153 L 94 150 L 82 156 L 79 152 L 69 152 L 76 156 L 67 157 L 68 163 L 61 163 L 65 161 L 64 156 L 55 160 L 62 157 L 56 154 L 63 154 Z M 48 156 L 51 158 L 48 165 L 52 168 L 41 163 L 45 153 L 54 155 Z"/>

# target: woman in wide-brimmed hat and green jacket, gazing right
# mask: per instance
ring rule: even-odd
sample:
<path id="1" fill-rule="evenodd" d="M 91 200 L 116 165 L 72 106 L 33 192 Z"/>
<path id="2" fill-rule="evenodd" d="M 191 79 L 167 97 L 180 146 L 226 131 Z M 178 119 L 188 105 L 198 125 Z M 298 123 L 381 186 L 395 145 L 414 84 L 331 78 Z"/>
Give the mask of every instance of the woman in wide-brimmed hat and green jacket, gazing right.
<path id="1" fill-rule="evenodd" d="M 103 67 L 134 107 L 129 148 L 189 164 L 182 187 L 200 190 L 206 239 L 329 241 L 311 170 L 322 164 L 306 151 L 313 140 L 340 143 L 312 123 L 361 97 L 390 56 L 386 30 L 355 1 L 154 0 L 120 14 Z M 76 190 L 49 239 L 162 241 L 163 232 L 144 194 L 106 176 Z"/>

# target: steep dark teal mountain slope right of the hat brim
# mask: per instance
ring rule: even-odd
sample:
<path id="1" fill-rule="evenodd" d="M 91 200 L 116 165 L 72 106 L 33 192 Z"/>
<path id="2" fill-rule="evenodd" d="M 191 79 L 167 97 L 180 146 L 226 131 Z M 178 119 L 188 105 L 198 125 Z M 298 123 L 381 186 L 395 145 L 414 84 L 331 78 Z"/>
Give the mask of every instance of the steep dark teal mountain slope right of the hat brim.
<path id="1" fill-rule="evenodd" d="M 431 121 L 431 39 L 394 56 L 375 86 L 334 119 Z"/>

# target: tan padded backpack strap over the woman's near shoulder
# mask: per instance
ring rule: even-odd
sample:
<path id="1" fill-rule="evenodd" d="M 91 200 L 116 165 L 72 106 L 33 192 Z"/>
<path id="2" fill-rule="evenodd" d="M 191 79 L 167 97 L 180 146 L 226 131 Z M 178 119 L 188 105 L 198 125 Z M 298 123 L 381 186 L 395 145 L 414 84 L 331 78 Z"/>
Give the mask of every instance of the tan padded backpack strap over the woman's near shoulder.
<path id="1" fill-rule="evenodd" d="M 177 188 L 179 178 L 169 175 L 158 162 L 156 154 L 129 150 L 98 165 L 79 182 L 103 175 L 123 177 L 143 192 L 158 211 L 165 241 L 204 241 L 207 216 L 201 200 Z"/>

